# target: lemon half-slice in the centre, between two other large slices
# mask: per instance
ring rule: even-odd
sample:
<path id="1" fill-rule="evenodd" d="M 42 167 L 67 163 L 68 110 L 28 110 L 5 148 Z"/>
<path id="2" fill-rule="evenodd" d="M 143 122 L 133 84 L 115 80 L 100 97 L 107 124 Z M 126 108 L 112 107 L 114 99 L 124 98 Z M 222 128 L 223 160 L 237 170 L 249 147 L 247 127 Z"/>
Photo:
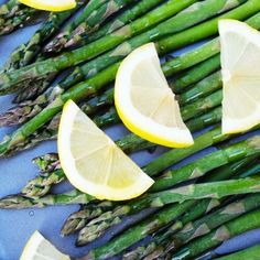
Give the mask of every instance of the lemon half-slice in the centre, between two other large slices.
<path id="1" fill-rule="evenodd" d="M 171 148 L 193 144 L 153 43 L 134 50 L 121 63 L 115 102 L 122 122 L 137 136 Z"/>

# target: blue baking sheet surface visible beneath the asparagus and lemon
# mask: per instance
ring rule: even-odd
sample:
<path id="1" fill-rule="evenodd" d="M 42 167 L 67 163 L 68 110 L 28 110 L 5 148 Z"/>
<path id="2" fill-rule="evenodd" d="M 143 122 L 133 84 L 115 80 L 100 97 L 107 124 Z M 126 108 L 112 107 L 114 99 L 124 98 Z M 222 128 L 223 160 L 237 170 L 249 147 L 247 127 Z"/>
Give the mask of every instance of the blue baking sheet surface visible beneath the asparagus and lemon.
<path id="1" fill-rule="evenodd" d="M 0 0 L 0 4 L 3 1 Z M 11 52 L 21 43 L 26 42 L 37 28 L 39 25 L 33 25 L 19 30 L 11 35 L 0 37 L 0 67 L 4 64 Z M 182 50 L 182 52 L 186 50 Z M 12 96 L 0 97 L 0 112 L 6 111 L 12 106 L 11 99 Z M 12 131 L 13 128 L 0 129 L 0 140 L 4 134 Z M 113 139 L 119 139 L 128 133 L 121 126 L 109 128 L 107 132 Z M 34 149 L 22 152 L 10 159 L 0 160 L 0 197 L 19 193 L 29 180 L 37 176 L 37 169 L 31 163 L 33 158 L 55 151 L 56 142 L 50 141 L 41 143 Z M 191 156 L 189 160 L 203 156 L 209 151 L 213 151 L 213 148 Z M 144 165 L 162 152 L 163 149 L 156 150 L 153 154 L 139 152 L 133 154 L 132 159 L 138 162 L 139 165 Z M 181 164 L 186 162 L 187 160 L 181 162 Z M 64 192 L 71 188 L 72 186 L 69 184 L 62 184 L 58 185 L 54 192 Z M 65 219 L 71 213 L 78 208 L 78 206 L 59 206 L 22 210 L 0 209 L 0 260 L 18 260 L 25 242 L 35 230 L 40 230 L 43 236 L 50 239 L 61 251 L 74 258 L 83 257 L 93 245 L 90 245 L 90 247 L 75 248 L 74 242 L 76 236 L 66 238 L 59 236 L 59 230 Z M 217 251 L 227 252 L 237 250 L 238 248 L 248 247 L 256 242 L 260 242 L 260 229 L 231 239 L 218 248 Z"/>

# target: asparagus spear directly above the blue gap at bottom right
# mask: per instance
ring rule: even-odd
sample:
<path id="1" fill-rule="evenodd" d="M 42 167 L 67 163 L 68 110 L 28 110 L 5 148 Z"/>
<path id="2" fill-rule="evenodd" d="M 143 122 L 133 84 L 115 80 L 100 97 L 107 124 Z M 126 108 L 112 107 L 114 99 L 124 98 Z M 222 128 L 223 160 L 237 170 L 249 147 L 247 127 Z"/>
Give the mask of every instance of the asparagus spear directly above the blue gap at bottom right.
<path id="1" fill-rule="evenodd" d="M 245 214 L 227 224 L 210 231 L 208 235 L 195 239 L 183 247 L 178 252 L 172 256 L 172 259 L 194 259 L 204 251 L 217 247 L 223 241 L 258 228 L 260 225 L 260 210 L 253 210 Z"/>

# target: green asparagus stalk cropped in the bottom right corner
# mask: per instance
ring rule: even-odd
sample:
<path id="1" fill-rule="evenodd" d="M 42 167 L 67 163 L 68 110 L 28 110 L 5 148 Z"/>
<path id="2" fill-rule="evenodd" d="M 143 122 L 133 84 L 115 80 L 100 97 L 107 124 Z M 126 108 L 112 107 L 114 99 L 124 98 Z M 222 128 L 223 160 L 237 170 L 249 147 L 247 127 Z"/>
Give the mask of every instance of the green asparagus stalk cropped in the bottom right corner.
<path id="1" fill-rule="evenodd" d="M 258 260 L 260 256 L 260 245 L 252 246 L 238 252 L 230 253 L 225 257 L 218 258 L 218 260 Z"/>

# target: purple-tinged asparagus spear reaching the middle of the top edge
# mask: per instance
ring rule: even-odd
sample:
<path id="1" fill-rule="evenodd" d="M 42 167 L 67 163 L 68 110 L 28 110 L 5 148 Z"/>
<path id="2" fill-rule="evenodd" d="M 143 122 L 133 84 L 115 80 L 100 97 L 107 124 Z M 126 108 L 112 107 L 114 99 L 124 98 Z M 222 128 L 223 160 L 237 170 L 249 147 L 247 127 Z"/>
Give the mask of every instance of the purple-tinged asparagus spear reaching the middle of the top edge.
<path id="1" fill-rule="evenodd" d="M 82 44 L 82 37 L 88 36 L 89 33 L 98 30 L 100 24 L 106 21 L 107 18 L 117 13 L 120 9 L 133 3 L 131 0 L 109 0 L 102 4 L 99 9 L 91 13 L 83 23 L 80 23 L 67 37 L 67 41 L 63 41 L 63 46 L 75 47 Z"/>

